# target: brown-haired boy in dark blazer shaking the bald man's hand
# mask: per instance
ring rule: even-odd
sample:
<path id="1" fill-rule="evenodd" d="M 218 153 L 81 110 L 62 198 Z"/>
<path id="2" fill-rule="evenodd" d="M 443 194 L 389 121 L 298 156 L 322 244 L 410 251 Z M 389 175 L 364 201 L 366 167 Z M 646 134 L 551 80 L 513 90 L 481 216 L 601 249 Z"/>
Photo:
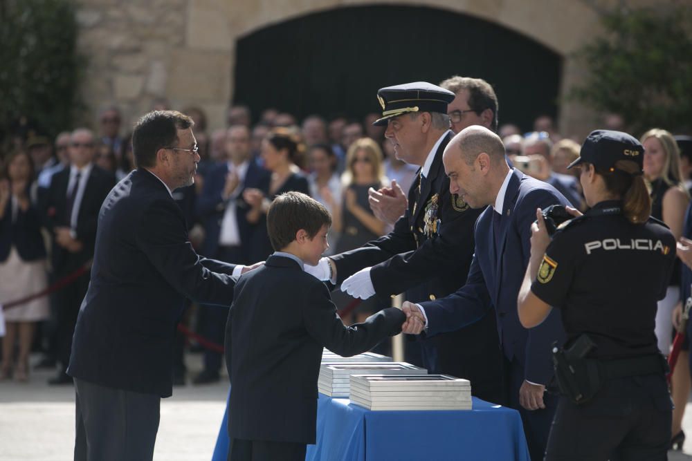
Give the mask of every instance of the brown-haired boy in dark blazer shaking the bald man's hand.
<path id="1" fill-rule="evenodd" d="M 304 272 L 329 247 L 329 225 L 329 211 L 300 192 L 268 210 L 276 251 L 238 281 L 226 325 L 229 460 L 304 460 L 316 439 L 322 348 L 356 355 L 401 331 L 397 308 L 345 326 L 325 284 Z"/>

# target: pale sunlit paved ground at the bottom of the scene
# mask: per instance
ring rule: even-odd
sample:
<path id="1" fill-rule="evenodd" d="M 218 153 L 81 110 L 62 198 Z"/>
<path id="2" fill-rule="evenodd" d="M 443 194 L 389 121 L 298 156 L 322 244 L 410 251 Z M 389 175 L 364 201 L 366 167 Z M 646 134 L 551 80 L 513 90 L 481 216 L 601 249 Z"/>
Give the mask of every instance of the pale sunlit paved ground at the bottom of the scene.
<path id="1" fill-rule="evenodd" d="M 194 375 L 199 355 L 188 355 Z M 53 387 L 53 373 L 35 371 L 28 384 L 0 382 L 0 461 L 69 461 L 74 447 L 74 390 Z M 218 384 L 174 388 L 161 403 L 154 460 L 209 461 L 226 406 L 228 379 Z M 684 429 L 692 434 L 692 403 L 687 404 Z M 686 454 L 690 453 L 690 454 Z M 692 439 L 683 453 L 669 453 L 671 461 L 692 461 Z"/>

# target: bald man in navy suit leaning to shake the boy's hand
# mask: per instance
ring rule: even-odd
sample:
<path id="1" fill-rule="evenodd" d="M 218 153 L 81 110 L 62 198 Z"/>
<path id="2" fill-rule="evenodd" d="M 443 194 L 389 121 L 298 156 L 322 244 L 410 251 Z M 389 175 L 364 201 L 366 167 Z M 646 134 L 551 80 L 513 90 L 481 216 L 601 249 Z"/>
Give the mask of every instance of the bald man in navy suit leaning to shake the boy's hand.
<path id="1" fill-rule="evenodd" d="M 483 318 L 495 306 L 504 352 L 509 404 L 522 415 L 531 459 L 542 460 L 556 398 L 544 394 L 552 378 L 551 349 L 564 340 L 556 310 L 527 330 L 517 314 L 517 295 L 530 256 L 531 223 L 536 208 L 569 205 L 554 187 L 510 169 L 504 145 L 482 126 L 462 130 L 444 152 L 450 191 L 475 209 L 491 205 L 475 224 L 475 254 L 466 284 L 444 299 L 404 303 L 420 323 L 404 332 L 426 336 L 456 330 Z"/>

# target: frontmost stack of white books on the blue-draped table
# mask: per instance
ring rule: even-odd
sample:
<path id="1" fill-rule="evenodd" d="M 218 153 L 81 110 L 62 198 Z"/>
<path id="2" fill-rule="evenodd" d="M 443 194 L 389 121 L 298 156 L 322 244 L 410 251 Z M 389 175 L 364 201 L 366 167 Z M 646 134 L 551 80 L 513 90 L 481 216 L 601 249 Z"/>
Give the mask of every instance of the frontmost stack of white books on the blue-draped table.
<path id="1" fill-rule="evenodd" d="M 448 375 L 352 375 L 349 398 L 374 411 L 471 410 L 471 383 Z"/>

